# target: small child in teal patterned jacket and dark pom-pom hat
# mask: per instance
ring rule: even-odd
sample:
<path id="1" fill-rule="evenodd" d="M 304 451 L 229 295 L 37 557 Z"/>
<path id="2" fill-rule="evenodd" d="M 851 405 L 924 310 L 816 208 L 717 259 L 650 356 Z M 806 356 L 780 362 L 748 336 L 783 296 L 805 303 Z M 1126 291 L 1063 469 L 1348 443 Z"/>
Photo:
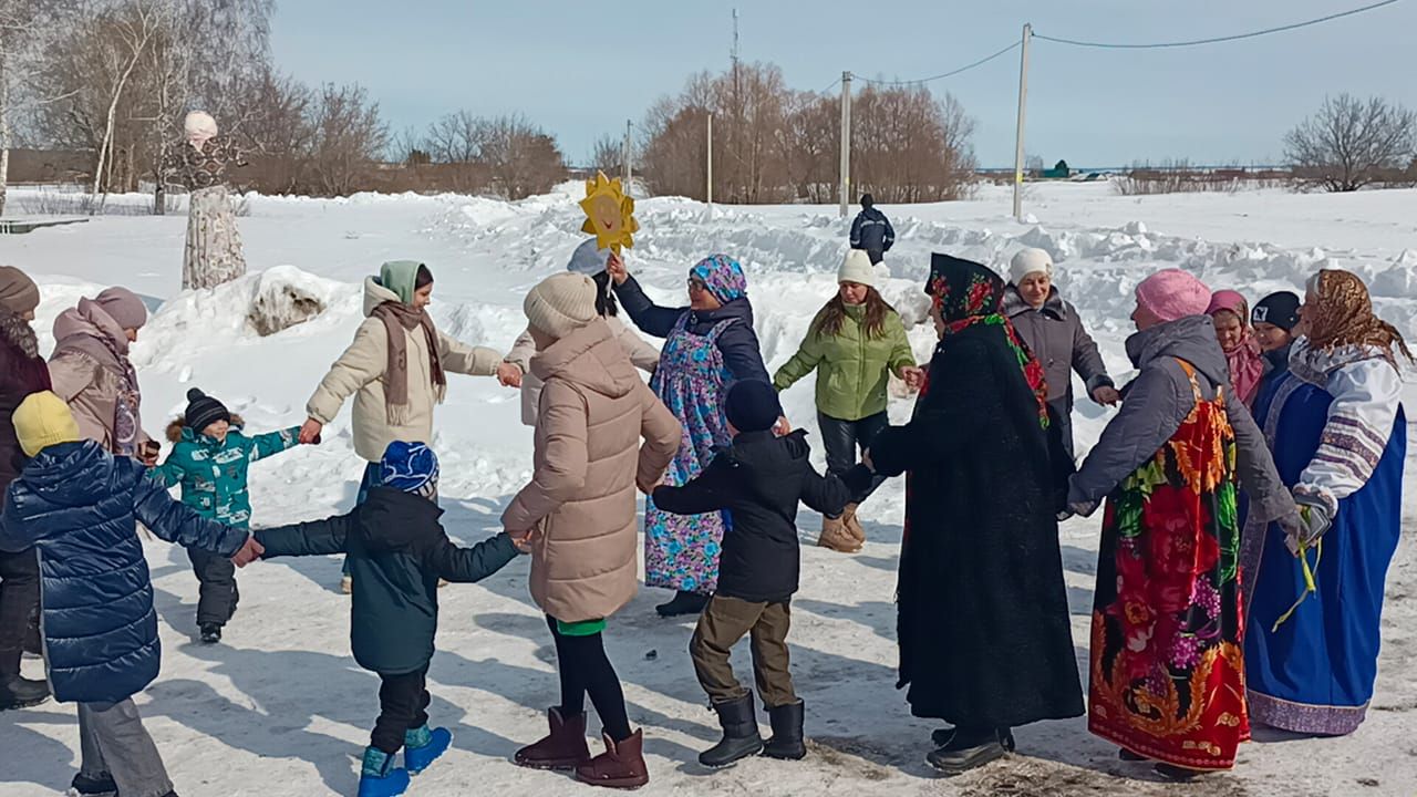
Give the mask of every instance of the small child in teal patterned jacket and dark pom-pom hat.
<path id="1" fill-rule="evenodd" d="M 187 391 L 187 411 L 167 427 L 173 450 L 150 475 L 166 486 L 181 485 L 181 502 L 203 518 L 247 529 L 251 526 L 251 499 L 247 495 L 247 471 L 251 462 L 279 454 L 299 442 L 299 427 L 247 437 L 241 417 L 232 416 L 215 398 L 193 387 Z M 237 611 L 237 572 L 230 559 L 188 547 L 187 557 L 201 581 L 197 601 L 197 628 L 201 641 L 221 641 L 221 628 Z"/>

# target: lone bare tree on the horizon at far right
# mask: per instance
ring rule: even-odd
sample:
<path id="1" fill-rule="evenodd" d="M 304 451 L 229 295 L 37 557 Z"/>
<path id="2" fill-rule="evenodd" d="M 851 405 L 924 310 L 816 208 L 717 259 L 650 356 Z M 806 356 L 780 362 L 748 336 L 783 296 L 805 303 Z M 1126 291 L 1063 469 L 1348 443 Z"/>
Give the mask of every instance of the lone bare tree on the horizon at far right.
<path id="1" fill-rule="evenodd" d="M 1301 179 L 1329 191 L 1356 191 L 1393 179 L 1417 153 L 1417 112 L 1380 96 L 1329 96 L 1284 136 Z"/>

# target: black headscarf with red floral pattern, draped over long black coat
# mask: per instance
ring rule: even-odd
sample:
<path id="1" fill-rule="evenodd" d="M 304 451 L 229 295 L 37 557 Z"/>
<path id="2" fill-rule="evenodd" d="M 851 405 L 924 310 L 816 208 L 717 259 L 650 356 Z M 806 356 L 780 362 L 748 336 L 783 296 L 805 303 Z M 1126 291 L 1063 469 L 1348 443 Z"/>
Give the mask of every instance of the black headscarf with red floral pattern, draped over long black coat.
<path id="1" fill-rule="evenodd" d="M 1049 386 L 1043 366 L 1002 312 L 1003 279 L 978 262 L 948 255 L 934 255 L 930 271 L 925 292 L 934 298 L 939 318 L 945 322 L 939 343 L 944 345 L 972 326 L 999 329 L 1039 404 L 1039 425 L 1049 428 Z"/>

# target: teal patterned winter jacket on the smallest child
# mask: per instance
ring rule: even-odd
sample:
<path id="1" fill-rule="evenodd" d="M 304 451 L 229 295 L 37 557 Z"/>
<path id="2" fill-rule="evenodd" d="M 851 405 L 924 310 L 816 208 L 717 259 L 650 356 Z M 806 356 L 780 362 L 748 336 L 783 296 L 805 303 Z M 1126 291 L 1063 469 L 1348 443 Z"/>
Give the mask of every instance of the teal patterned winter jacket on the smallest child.
<path id="1" fill-rule="evenodd" d="M 300 427 L 292 427 L 247 437 L 241 434 L 241 418 L 232 417 L 225 442 L 217 442 L 179 418 L 167 427 L 171 452 L 149 475 L 164 486 L 181 485 L 181 502 L 203 518 L 245 529 L 251 525 L 247 469 L 256 459 L 295 447 L 299 435 Z"/>

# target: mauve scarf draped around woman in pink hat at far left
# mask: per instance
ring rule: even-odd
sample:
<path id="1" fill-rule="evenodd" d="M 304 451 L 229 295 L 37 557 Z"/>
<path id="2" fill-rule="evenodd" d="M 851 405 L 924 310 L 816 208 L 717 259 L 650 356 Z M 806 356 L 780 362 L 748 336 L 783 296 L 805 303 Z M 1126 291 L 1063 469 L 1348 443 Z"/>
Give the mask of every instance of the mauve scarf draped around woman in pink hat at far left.
<path id="1" fill-rule="evenodd" d="M 128 359 L 128 335 L 98 302 L 79 299 L 75 309 L 64 311 L 54 322 L 58 343 L 54 352 L 81 352 L 118 376 L 113 396 L 113 448 L 119 457 L 137 455 L 139 411 L 142 393 L 137 372 Z"/>

